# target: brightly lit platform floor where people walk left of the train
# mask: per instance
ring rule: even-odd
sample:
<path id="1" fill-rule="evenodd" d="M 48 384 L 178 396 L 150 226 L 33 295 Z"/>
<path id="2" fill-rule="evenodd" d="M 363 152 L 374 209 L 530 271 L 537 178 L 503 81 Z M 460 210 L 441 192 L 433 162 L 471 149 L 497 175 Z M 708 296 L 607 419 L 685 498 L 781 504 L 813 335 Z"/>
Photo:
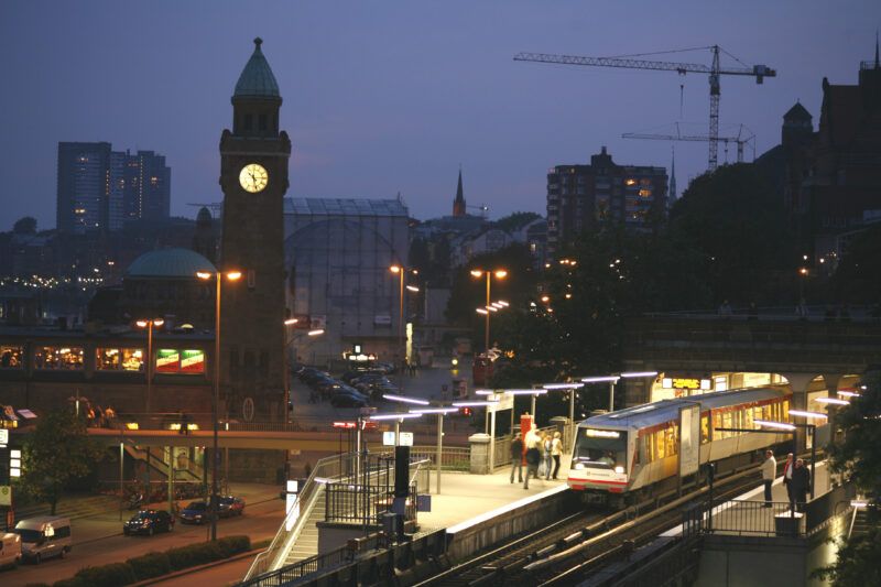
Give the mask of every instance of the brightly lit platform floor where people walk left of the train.
<path id="1" fill-rule="evenodd" d="M 566 487 L 569 472 L 569 457 L 561 458 L 557 480 L 544 477 L 530 479 L 529 489 L 523 483 L 510 482 L 511 467 L 499 468 L 492 475 L 470 475 L 467 472 L 444 472 L 440 479 L 440 494 L 435 493 L 434 471 L 432 471 L 432 511 L 418 513 L 420 533 L 450 529 L 468 522 L 491 518 L 501 512 L 497 510 L 515 509 L 523 502 L 531 502 L 559 491 Z M 523 475 L 526 468 L 523 467 Z M 515 474 L 516 475 L 516 474 Z"/>

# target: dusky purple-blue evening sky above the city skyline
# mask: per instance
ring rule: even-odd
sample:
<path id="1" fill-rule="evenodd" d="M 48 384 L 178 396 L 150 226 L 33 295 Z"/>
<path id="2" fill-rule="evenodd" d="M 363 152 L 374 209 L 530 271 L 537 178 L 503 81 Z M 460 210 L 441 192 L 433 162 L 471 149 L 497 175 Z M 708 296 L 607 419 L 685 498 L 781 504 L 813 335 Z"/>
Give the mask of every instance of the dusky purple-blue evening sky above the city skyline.
<path id="1" fill-rule="evenodd" d="M 707 127 L 705 75 L 518 63 L 514 53 L 718 43 L 779 72 L 763 86 L 721 80 L 722 127 L 748 126 L 761 153 L 779 141 L 796 99 L 818 122 L 824 76 L 856 84 L 879 24 L 881 2 L 870 0 L 7 0 L 0 230 L 25 215 L 55 226 L 58 141 L 166 155 L 174 215 L 195 216 L 187 203 L 218 202 L 220 132 L 231 126 L 229 98 L 258 35 L 294 144 L 289 196 L 400 192 L 411 215 L 429 218 L 450 213 L 461 164 L 469 205 L 486 204 L 496 218 L 543 214 L 546 170 L 587 162 L 603 144 L 618 163 L 670 165 L 671 143 L 622 132 L 676 120 L 694 122 L 696 133 Z M 657 58 L 710 61 L 709 52 Z M 676 144 L 679 191 L 706 160 L 706 143 Z"/>

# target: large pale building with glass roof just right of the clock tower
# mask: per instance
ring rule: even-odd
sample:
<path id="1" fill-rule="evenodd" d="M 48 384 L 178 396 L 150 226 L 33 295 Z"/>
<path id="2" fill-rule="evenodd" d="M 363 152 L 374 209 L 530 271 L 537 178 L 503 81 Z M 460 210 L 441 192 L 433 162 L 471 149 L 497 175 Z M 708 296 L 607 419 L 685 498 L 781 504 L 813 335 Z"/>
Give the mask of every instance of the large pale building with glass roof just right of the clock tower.
<path id="1" fill-rule="evenodd" d="M 287 198 L 284 204 L 285 292 L 297 318 L 289 337 L 292 359 L 326 363 L 359 344 L 378 360 L 402 360 L 400 284 L 389 267 L 407 263 L 406 207 L 396 199 Z M 325 334 L 308 337 L 307 325 Z"/>

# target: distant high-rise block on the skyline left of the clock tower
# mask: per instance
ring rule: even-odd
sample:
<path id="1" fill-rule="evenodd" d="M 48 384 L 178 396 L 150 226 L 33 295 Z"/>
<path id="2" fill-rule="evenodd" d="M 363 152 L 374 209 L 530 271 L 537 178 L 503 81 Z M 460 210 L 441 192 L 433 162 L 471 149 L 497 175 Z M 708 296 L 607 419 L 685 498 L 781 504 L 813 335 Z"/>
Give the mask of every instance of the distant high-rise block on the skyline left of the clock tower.
<path id="1" fill-rule="evenodd" d="M 126 220 L 167 220 L 171 169 L 153 151 L 112 151 L 108 142 L 59 142 L 58 230 L 121 230 Z"/>

